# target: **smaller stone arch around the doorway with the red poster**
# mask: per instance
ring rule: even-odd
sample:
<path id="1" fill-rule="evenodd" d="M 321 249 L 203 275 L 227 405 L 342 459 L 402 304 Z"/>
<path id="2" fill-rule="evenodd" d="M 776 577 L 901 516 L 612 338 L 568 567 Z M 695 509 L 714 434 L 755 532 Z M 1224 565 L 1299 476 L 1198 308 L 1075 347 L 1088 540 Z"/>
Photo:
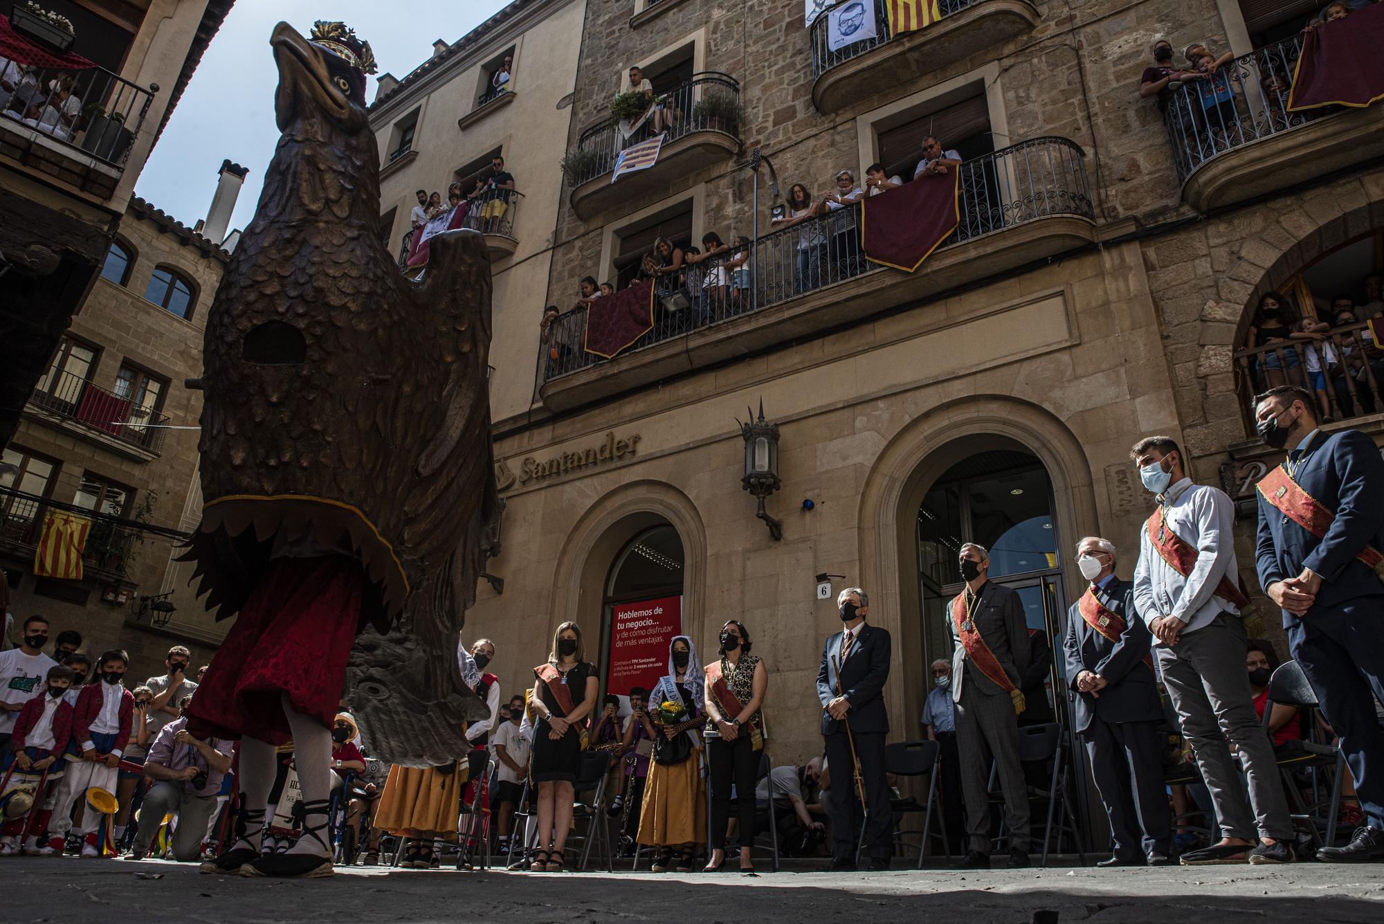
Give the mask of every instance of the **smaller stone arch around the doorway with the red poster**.
<path id="1" fill-rule="evenodd" d="M 616 553 L 635 534 L 668 523 L 682 539 L 682 629 L 699 639 L 706 600 L 706 527 L 692 499 L 663 481 L 628 481 L 598 498 L 577 520 L 558 553 L 548 635 L 567 620 L 599 627 L 605 581 Z M 700 647 L 700 643 L 699 643 Z"/>

